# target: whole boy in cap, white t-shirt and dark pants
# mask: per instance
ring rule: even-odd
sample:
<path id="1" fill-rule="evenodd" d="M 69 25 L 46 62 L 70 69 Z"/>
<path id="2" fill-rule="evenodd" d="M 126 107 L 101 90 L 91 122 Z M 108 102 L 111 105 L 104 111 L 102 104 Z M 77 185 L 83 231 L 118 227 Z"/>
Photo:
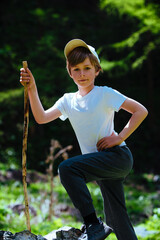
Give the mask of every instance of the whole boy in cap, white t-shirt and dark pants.
<path id="1" fill-rule="evenodd" d="M 61 120 L 68 118 L 77 136 L 82 155 L 62 162 L 59 175 L 84 220 L 79 240 L 103 240 L 112 231 L 118 240 L 136 240 L 123 191 L 123 181 L 133 166 L 125 140 L 148 112 L 140 103 L 110 87 L 95 86 L 95 78 L 102 69 L 93 47 L 80 39 L 73 39 L 65 46 L 64 54 L 77 92 L 64 94 L 45 111 L 29 69 L 21 69 L 20 82 L 22 85 L 28 83 L 31 109 L 39 124 L 59 117 Z M 131 118 L 118 134 L 114 131 L 114 112 L 120 109 L 131 113 Z M 86 186 L 90 181 L 96 181 L 101 189 L 107 225 L 96 215 Z"/>

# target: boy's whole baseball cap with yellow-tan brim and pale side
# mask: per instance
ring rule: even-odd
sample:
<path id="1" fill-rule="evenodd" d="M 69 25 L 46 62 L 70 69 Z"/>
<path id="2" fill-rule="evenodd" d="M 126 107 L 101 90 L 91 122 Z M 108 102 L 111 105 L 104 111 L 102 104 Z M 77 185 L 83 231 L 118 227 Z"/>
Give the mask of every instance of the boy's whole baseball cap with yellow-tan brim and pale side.
<path id="1" fill-rule="evenodd" d="M 98 54 L 96 53 L 96 50 L 94 47 L 88 45 L 87 43 L 85 43 L 83 40 L 81 39 L 73 39 L 71 41 L 69 41 L 65 48 L 64 48 L 64 55 L 67 58 L 68 54 L 76 47 L 85 47 L 87 48 L 97 59 L 98 62 L 100 63 L 100 59 L 98 57 Z"/>

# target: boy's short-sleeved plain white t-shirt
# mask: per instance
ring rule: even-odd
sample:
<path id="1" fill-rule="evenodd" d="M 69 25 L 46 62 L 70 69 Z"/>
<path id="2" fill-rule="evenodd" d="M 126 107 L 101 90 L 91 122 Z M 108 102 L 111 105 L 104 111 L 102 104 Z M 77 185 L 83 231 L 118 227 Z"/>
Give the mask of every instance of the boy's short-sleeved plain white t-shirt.
<path id="1" fill-rule="evenodd" d="M 126 96 L 109 87 L 94 88 L 85 96 L 66 93 L 54 105 L 69 119 L 77 136 L 82 154 L 97 152 L 97 142 L 114 131 L 114 112 Z M 125 145 L 123 142 L 121 145 Z"/>

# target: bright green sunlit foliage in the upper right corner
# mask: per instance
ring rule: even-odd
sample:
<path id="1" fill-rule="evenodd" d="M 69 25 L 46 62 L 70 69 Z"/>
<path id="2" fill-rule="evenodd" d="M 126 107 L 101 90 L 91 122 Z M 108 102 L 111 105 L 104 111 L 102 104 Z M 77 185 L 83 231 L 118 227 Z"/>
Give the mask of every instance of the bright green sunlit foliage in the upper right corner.
<path id="1" fill-rule="evenodd" d="M 159 42 L 159 31 L 160 31 L 160 21 L 159 16 L 157 14 L 156 5 L 153 4 L 145 4 L 144 0 L 137 0 L 137 1 L 119 1 L 119 0 L 101 0 L 100 1 L 101 9 L 105 9 L 108 14 L 118 14 L 120 19 L 127 16 L 128 21 L 135 21 L 137 22 L 136 30 L 133 31 L 129 37 L 123 39 L 122 41 L 116 42 L 111 44 L 113 49 L 116 52 L 126 51 L 126 49 L 130 49 L 128 52 L 128 57 L 121 59 L 120 61 L 113 63 L 108 63 L 110 68 L 115 68 L 115 66 L 121 66 L 122 71 L 125 69 L 125 65 L 129 66 L 132 64 L 132 69 L 135 70 L 137 68 L 141 68 L 145 61 L 148 59 L 148 55 L 152 52 L 156 47 L 157 43 Z M 118 11 L 118 13 L 117 13 Z M 143 52 L 141 56 L 137 56 L 139 54 L 136 52 L 136 45 L 139 44 L 142 39 L 147 37 L 148 34 L 152 36 L 156 36 L 156 38 L 149 39 L 145 42 L 143 46 Z M 144 36 L 144 37 L 143 37 Z M 130 57 L 129 57 L 130 56 Z M 134 61 L 133 59 L 136 58 Z M 129 59 L 130 61 L 126 62 Z M 106 64 L 105 64 L 106 65 Z M 109 68 L 105 67 L 105 70 L 110 70 Z M 130 69 L 128 68 L 128 71 Z M 124 75 L 126 71 L 124 71 Z"/>

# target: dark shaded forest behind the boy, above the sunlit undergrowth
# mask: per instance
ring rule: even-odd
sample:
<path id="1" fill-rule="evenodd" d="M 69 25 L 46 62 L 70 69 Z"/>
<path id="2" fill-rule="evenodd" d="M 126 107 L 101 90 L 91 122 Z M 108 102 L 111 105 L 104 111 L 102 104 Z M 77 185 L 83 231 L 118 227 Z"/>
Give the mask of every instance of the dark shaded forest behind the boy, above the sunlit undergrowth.
<path id="1" fill-rule="evenodd" d="M 160 171 L 159 75 L 160 2 L 158 0 L 5 0 L 0 8 L 0 161 L 21 166 L 23 87 L 22 61 L 33 72 L 44 108 L 65 92 L 76 91 L 67 74 L 63 49 L 73 38 L 94 46 L 104 70 L 97 85 L 110 86 L 139 101 L 147 119 L 127 139 L 134 171 Z M 116 113 L 120 131 L 130 115 Z M 80 154 L 69 121 L 38 125 L 30 114 L 28 168 L 44 171 L 51 139 L 70 156 Z"/>

